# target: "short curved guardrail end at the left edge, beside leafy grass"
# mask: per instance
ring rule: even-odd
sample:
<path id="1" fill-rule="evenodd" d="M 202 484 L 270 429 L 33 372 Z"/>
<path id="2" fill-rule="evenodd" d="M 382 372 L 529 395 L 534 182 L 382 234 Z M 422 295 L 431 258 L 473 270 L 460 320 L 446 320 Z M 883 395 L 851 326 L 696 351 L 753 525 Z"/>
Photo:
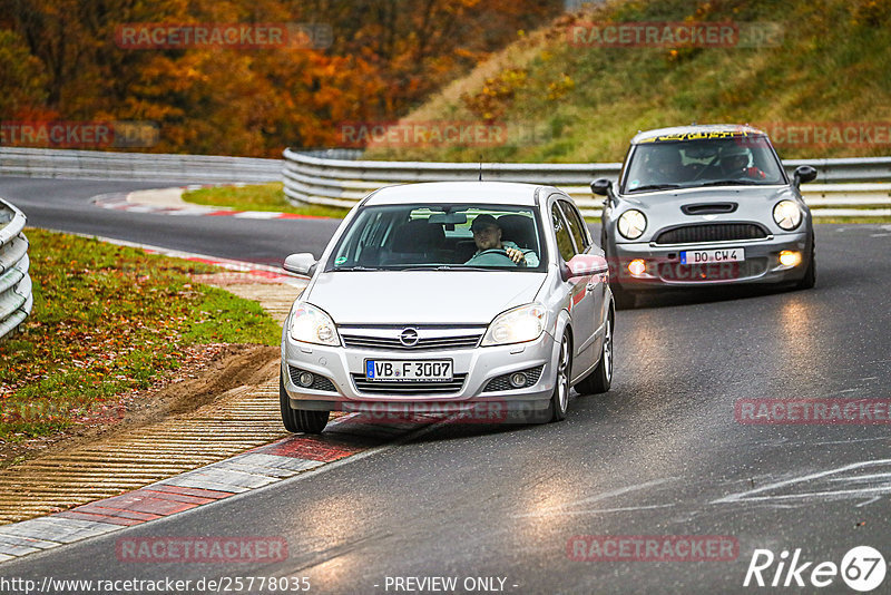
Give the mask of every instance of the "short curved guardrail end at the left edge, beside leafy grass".
<path id="1" fill-rule="evenodd" d="M 0 198 L 0 339 L 14 331 L 33 305 L 23 228 L 25 214 Z"/>

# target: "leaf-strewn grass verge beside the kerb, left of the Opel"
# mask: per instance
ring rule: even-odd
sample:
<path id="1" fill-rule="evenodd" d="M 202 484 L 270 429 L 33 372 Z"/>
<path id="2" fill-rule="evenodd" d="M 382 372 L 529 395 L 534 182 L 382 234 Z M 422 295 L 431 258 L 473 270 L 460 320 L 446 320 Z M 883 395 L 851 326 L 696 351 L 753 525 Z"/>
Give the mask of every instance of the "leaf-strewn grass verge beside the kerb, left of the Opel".
<path id="1" fill-rule="evenodd" d="M 277 344 L 257 303 L 195 283 L 200 263 L 28 230 L 35 305 L 0 342 L 0 442 L 115 414 L 120 398 L 208 343 Z"/>

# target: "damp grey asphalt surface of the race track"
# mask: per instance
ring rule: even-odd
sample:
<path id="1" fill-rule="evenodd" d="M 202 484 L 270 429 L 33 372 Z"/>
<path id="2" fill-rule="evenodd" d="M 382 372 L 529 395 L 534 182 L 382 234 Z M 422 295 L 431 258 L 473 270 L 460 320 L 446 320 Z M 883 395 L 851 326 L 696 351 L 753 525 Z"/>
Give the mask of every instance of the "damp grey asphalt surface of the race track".
<path id="1" fill-rule="evenodd" d="M 227 257 L 234 250 L 281 259 L 298 244 L 317 253 L 330 233 L 317 222 L 85 206 L 88 195 L 134 187 L 0 179 L 0 196 L 31 225 Z M 734 406 L 889 398 L 891 226 L 820 225 L 816 241 L 812 291 L 681 294 L 619 312 L 613 390 L 575 398 L 562 423 L 440 426 L 243 497 L 6 563 L 2 575 L 307 576 L 314 593 L 394 593 L 388 576 L 454 576 L 459 585 L 503 577 L 506 593 L 814 592 L 744 588 L 752 554 L 801 548 L 802 562 L 814 563 L 805 581 L 816 563 L 840 564 L 858 545 L 891 559 L 888 425 L 741 425 Z M 738 557 L 578 562 L 567 556 L 576 535 L 730 536 Z M 288 556 L 124 563 L 115 553 L 121 536 L 284 537 Z M 891 577 L 875 593 L 889 585 Z M 839 577 L 821 592 L 852 593 Z"/>

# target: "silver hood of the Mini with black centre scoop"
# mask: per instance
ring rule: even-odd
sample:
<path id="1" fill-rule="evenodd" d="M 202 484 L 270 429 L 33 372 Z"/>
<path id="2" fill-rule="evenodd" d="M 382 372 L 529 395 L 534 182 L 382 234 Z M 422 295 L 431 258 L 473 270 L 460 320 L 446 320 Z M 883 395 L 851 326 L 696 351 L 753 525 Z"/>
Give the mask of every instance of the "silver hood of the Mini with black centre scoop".
<path id="1" fill-rule="evenodd" d="M 756 221 L 774 233 L 783 233 L 773 222 L 771 213 L 773 205 L 784 198 L 795 199 L 794 191 L 790 186 L 716 186 L 626 194 L 621 196 L 619 209 L 639 208 L 647 216 L 647 230 L 636 242 L 648 242 L 658 230 L 668 225 L 712 221 Z M 681 211 L 684 205 L 708 203 L 736 203 L 738 206 L 733 213 L 716 215 L 686 215 Z M 627 242 L 624 238 L 619 241 Z"/>

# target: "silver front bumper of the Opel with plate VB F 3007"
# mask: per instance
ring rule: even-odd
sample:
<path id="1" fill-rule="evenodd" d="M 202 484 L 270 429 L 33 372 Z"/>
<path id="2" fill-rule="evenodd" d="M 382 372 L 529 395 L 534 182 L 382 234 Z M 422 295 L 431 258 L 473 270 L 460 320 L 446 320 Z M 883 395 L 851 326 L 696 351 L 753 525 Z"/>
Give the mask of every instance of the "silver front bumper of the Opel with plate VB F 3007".
<path id="1" fill-rule="evenodd" d="M 375 403 L 417 406 L 419 411 L 438 404 L 497 402 L 507 410 L 540 410 L 554 392 L 559 345 L 547 332 L 536 341 L 513 345 L 477 347 L 451 350 L 395 351 L 366 348 L 327 347 L 293 341 L 284 333 L 282 341 L 282 381 L 293 409 L 321 411 L 364 410 Z M 373 387 L 363 390 L 366 359 L 452 360 L 454 390 L 427 391 L 424 384 L 401 383 L 405 390 L 388 392 Z M 294 382 L 292 369 L 306 371 L 327 382 L 306 388 Z M 521 389 L 484 390 L 489 381 L 518 371 L 540 370 L 535 382 Z M 459 377 L 460 381 L 459 381 Z M 319 390 L 319 389 L 323 390 Z M 503 387 L 502 387 L 503 388 Z M 417 390 L 415 390 L 417 389 Z"/>

